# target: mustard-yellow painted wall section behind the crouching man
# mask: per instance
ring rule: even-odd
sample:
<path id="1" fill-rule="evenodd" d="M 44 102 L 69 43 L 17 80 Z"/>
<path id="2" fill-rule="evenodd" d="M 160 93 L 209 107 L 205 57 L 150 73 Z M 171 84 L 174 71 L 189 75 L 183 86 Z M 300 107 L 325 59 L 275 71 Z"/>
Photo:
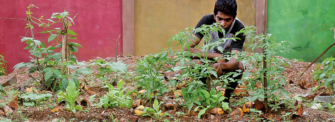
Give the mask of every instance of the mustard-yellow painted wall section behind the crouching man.
<path id="1" fill-rule="evenodd" d="M 167 40 L 182 29 L 196 26 L 213 13 L 216 0 L 135 0 L 134 55 L 154 54 L 167 48 Z M 255 25 L 256 0 L 237 0 L 237 17 Z M 170 46 L 175 46 L 176 43 Z"/>

